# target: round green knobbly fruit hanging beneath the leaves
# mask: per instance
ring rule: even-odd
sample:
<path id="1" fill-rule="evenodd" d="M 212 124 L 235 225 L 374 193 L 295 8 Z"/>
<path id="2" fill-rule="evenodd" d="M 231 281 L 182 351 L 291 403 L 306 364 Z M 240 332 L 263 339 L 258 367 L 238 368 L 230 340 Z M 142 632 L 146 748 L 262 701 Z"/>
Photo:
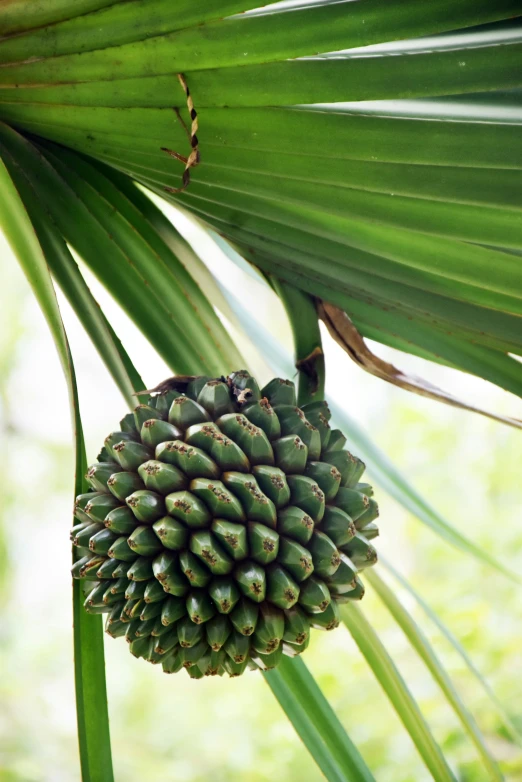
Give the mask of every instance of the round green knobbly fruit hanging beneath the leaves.
<path id="1" fill-rule="evenodd" d="M 76 500 L 86 610 L 195 679 L 273 668 L 337 627 L 377 559 L 378 508 L 329 418 L 325 402 L 297 407 L 291 381 L 260 390 L 245 371 L 136 407 Z"/>

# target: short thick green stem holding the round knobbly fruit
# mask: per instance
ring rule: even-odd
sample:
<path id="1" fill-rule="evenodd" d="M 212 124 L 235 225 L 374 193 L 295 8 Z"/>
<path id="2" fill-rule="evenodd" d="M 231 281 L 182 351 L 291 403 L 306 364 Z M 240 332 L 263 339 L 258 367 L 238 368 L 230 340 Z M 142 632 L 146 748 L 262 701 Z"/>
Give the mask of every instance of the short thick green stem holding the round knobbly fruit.
<path id="1" fill-rule="evenodd" d="M 313 296 L 271 277 L 286 310 L 294 338 L 295 365 L 299 373 L 297 404 L 324 399 L 325 363 L 319 319 Z"/>

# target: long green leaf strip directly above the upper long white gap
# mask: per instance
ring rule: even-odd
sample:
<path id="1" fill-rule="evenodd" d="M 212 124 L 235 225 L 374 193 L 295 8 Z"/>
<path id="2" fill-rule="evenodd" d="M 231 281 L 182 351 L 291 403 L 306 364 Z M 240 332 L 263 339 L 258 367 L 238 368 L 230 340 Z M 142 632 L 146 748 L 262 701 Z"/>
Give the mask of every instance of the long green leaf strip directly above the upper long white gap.
<path id="1" fill-rule="evenodd" d="M 400 5 L 386 0 L 367 0 L 364 5 L 347 2 L 320 3 L 308 7 L 220 19 L 194 28 L 166 33 L 124 44 L 117 58 L 111 48 L 80 55 L 48 57 L 40 62 L 13 64 L 0 82 L 47 83 L 104 78 L 159 75 L 172 72 L 233 67 L 302 57 L 317 52 L 368 46 L 397 38 L 415 38 L 520 15 L 516 0 L 497 0 L 494 6 L 461 0 L 432 0 L 418 13 L 415 0 Z M 237 46 L 243 40 L 247 46 Z M 245 51 L 246 50 L 246 51 Z"/>

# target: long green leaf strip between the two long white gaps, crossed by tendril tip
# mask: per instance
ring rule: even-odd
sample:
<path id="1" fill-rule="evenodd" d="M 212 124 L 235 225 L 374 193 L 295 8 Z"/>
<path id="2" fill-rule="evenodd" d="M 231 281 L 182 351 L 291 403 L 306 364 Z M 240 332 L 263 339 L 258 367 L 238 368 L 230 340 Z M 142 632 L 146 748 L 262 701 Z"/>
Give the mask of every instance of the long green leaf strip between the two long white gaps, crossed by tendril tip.
<path id="1" fill-rule="evenodd" d="M 154 11 L 149 13 L 152 16 Z M 101 20 L 97 22 L 97 28 L 100 24 Z M 111 30 L 111 33 L 114 46 L 118 41 L 117 31 Z M 29 41 L 24 42 L 25 47 L 28 44 Z M 77 46 L 79 44 L 78 41 Z M 0 57 L 5 60 L 3 48 L 0 42 Z M 466 68 L 460 65 L 464 58 Z M 521 70 L 522 45 L 513 41 L 500 46 L 497 43 L 491 46 L 470 43 L 448 51 L 384 53 L 373 58 L 338 55 L 337 59 L 210 68 L 190 71 L 188 78 L 198 109 L 250 108 L 411 100 L 516 89 L 522 85 Z M 0 87 L 0 100 L 71 106 L 168 108 L 176 96 L 170 74 Z"/>

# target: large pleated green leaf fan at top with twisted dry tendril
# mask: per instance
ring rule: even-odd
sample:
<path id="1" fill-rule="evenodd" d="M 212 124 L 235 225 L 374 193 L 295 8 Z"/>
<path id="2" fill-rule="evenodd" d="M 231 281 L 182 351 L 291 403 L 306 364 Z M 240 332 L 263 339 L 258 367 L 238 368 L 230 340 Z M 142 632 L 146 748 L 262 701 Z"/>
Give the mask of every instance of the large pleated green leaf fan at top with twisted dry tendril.
<path id="1" fill-rule="evenodd" d="M 183 71 L 203 162 L 178 198 L 247 257 L 254 249 L 266 271 L 353 314 L 363 334 L 520 394 L 506 355 L 521 351 L 520 271 L 502 250 L 521 244 L 522 154 L 499 109 L 519 85 L 517 2 L 441 1 L 422 14 L 413 2 L 324 2 L 229 18 L 254 4 L 184 2 L 174 11 L 155 0 L 149 13 L 142 2 L 93 2 L 70 19 L 63 3 L 44 5 L 34 30 L 0 41 L 7 122 L 163 192 L 178 186 L 181 165 L 161 148 L 187 148 L 170 109 L 186 116 L 175 78 Z M 8 33 L 25 28 L 22 6 L 0 13 Z M 49 21 L 52 37 L 40 29 Z M 371 56 L 357 48 L 376 44 Z M 292 59 L 336 49 L 344 53 Z M 488 122 L 484 110 L 473 119 L 485 90 L 500 96 L 487 104 Z M 460 98 L 426 103 L 448 95 Z M 413 97 L 421 100 L 380 109 L 379 100 Z M 358 114 L 356 102 L 372 100 Z M 303 103 L 321 110 L 287 108 Z M 445 121 L 459 105 L 469 119 Z M 63 155 L 57 165 L 72 187 Z M 410 346 L 411 320 L 419 329 Z"/>

